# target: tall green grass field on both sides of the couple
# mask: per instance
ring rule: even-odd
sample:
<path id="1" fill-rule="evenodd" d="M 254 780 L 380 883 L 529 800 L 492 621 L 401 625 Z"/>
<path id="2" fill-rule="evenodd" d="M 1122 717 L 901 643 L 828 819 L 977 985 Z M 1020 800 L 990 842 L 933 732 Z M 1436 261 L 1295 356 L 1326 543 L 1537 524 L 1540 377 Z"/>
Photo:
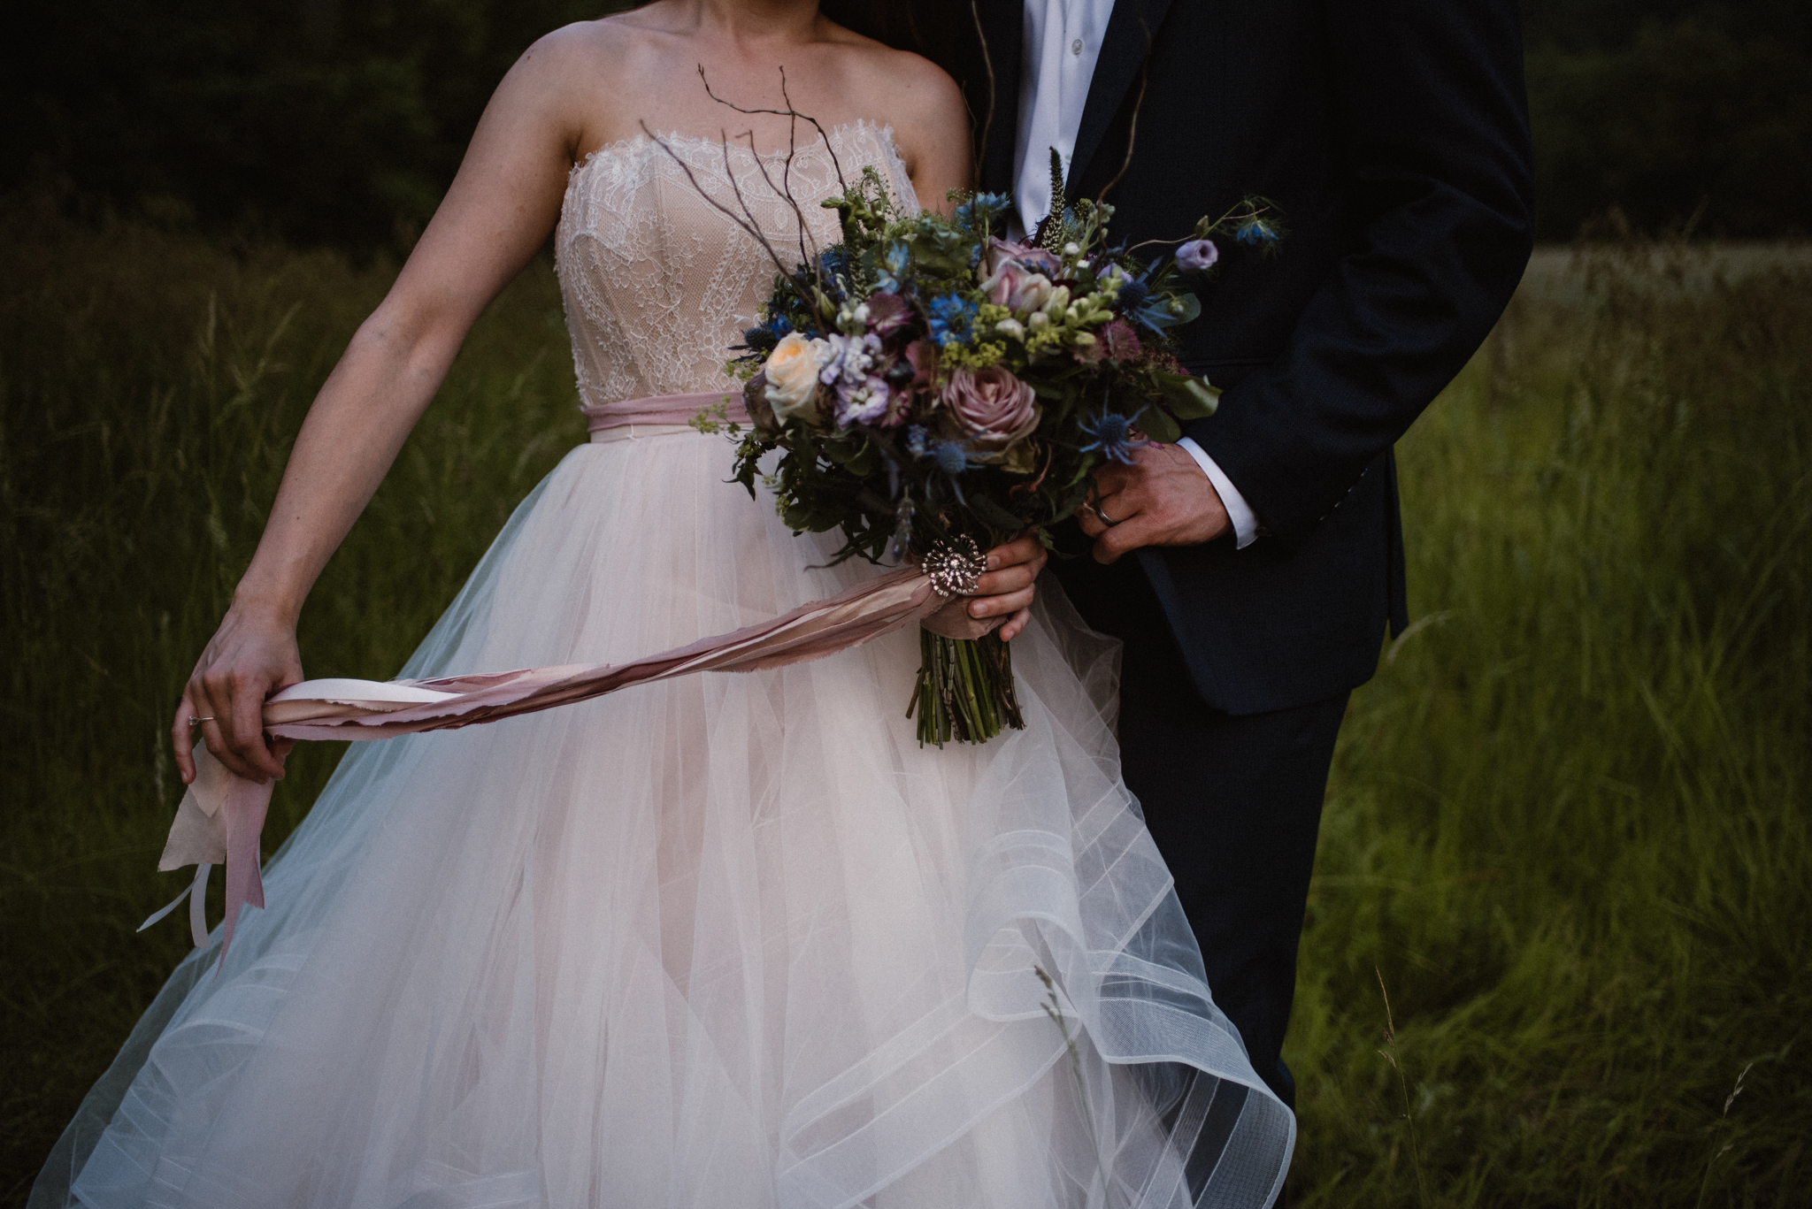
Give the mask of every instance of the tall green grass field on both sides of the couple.
<path id="1" fill-rule="evenodd" d="M 393 268 L 27 203 L 0 223 L 22 1204 L 187 944 L 132 932 L 181 883 L 156 872 L 170 705 Z M 1417 622 L 1328 792 L 1288 1046 L 1301 1205 L 1812 1204 L 1812 270 L 1734 263 L 1544 257 L 1402 442 Z M 399 667 L 583 437 L 574 402 L 536 265 L 328 567 L 310 674 Z M 337 758 L 297 750 L 266 852 Z"/>

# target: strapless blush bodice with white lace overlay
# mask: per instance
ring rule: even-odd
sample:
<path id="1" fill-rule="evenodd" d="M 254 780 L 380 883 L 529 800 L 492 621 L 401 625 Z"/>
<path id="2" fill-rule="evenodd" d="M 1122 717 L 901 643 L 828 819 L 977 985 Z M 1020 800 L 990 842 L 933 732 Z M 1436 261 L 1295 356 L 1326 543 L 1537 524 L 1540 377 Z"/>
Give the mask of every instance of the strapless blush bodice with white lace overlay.
<path id="1" fill-rule="evenodd" d="M 725 150 L 703 138 L 663 141 L 672 154 L 645 136 L 602 147 L 574 165 L 567 183 L 554 261 L 578 393 L 587 404 L 734 384 L 723 363 L 761 310 L 776 268 L 699 189 L 737 214 L 741 192 L 786 266 L 799 261 L 799 219 L 776 192 L 785 149 L 757 158 L 745 145 Z M 902 207 L 917 212 L 892 129 L 866 121 L 835 127 L 828 145 L 805 145 L 792 161 L 790 189 L 806 219 L 806 248 L 839 237 L 837 212 L 819 205 L 839 192 L 837 163 L 852 183 L 864 165 L 875 167 Z"/>

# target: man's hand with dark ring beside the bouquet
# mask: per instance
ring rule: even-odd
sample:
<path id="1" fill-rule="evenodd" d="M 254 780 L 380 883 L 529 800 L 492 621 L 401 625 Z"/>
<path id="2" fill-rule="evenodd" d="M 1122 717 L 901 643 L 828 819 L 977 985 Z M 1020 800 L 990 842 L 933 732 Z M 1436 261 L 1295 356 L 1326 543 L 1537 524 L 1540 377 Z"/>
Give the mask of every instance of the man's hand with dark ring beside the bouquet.
<path id="1" fill-rule="evenodd" d="M 1232 527 L 1219 491 L 1174 444 L 1143 446 L 1131 466 L 1098 471 L 1094 500 L 1076 520 L 1094 538 L 1094 562 L 1116 562 L 1142 546 L 1200 546 Z"/>

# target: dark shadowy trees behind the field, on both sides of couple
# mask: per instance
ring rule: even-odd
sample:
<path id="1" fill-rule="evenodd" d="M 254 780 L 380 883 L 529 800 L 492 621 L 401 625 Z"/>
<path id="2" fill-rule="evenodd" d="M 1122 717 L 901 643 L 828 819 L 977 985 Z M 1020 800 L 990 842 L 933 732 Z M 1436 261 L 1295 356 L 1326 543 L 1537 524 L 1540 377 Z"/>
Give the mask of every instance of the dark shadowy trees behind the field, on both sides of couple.
<path id="1" fill-rule="evenodd" d="M 612 7 L 11 0 L 0 189 L 406 247 L 509 63 Z M 1611 205 L 1649 228 L 1694 214 L 1707 234 L 1812 228 L 1812 4 L 1526 0 L 1524 13 L 1544 237 Z"/>

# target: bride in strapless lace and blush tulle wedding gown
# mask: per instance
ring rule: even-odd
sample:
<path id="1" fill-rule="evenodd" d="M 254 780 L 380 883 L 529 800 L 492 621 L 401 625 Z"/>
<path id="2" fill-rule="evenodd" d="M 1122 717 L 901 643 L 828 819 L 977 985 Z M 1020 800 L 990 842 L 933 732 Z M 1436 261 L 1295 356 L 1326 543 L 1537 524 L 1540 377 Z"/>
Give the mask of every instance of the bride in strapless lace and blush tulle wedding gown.
<path id="1" fill-rule="evenodd" d="M 828 136 L 792 136 L 788 96 Z M 759 100 L 757 100 L 759 98 Z M 727 134 L 728 127 L 728 134 Z M 643 131 L 656 132 L 652 138 Z M 743 132 L 748 132 L 743 138 Z M 295 440 L 176 712 L 283 776 L 295 618 L 478 312 L 554 234 L 593 417 L 402 676 L 623 662 L 873 575 L 824 567 L 661 417 L 721 390 L 839 170 L 968 179 L 957 87 L 815 0 L 660 0 L 542 38 Z M 649 401 L 623 406 L 625 401 Z M 602 404 L 612 404 L 609 408 Z M 638 419 L 640 415 L 640 419 Z M 172 975 L 33 1205 L 1265 1205 L 1294 1118 L 1212 1004 L 1120 781 L 1116 653 L 989 555 L 1026 729 L 920 749 L 917 638 L 362 743 L 246 912 Z"/>

